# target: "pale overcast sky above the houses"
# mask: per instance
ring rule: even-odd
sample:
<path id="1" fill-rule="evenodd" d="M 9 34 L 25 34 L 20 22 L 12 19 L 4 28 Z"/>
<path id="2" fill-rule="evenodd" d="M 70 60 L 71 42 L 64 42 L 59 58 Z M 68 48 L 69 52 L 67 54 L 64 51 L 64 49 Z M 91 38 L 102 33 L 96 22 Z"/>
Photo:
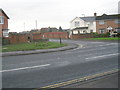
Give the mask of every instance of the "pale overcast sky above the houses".
<path id="1" fill-rule="evenodd" d="M 30 31 L 42 27 L 70 27 L 75 17 L 117 14 L 119 0 L 1 0 L 0 8 L 9 16 L 10 31 Z M 25 24 L 24 24 L 25 23 Z M 25 28 L 24 28 L 25 26 Z"/>

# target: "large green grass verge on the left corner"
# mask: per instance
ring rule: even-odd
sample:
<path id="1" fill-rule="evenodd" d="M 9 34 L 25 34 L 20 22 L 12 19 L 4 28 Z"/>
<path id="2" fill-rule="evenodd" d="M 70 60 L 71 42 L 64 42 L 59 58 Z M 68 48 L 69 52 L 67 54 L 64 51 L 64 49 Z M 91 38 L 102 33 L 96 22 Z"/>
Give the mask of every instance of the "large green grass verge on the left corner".
<path id="1" fill-rule="evenodd" d="M 51 49 L 51 48 L 63 47 L 66 45 L 67 44 L 63 44 L 63 43 L 60 44 L 57 42 L 20 43 L 20 44 L 5 45 L 2 47 L 2 52 Z"/>

